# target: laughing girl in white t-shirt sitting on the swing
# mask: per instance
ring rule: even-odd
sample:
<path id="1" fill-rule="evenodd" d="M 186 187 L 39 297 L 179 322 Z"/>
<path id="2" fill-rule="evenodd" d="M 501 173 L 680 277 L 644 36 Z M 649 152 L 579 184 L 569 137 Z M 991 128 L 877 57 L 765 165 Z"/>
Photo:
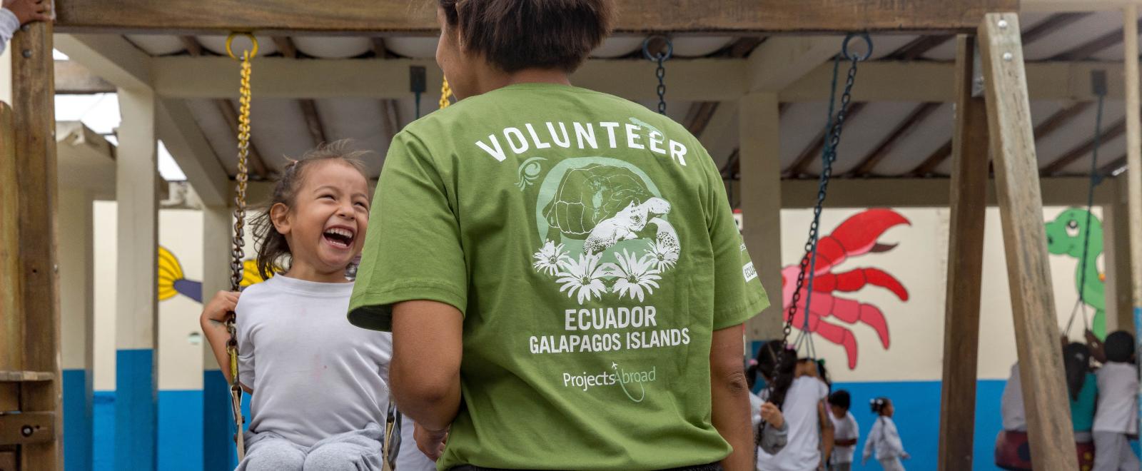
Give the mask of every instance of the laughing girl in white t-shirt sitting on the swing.
<path id="1" fill-rule="evenodd" d="M 369 225 L 360 154 L 341 142 L 288 163 L 254 223 L 266 281 L 219 292 L 202 311 L 227 381 L 223 321 L 236 312 L 240 381 L 251 394 L 240 471 L 381 469 L 392 336 L 345 319 L 346 269 Z"/>

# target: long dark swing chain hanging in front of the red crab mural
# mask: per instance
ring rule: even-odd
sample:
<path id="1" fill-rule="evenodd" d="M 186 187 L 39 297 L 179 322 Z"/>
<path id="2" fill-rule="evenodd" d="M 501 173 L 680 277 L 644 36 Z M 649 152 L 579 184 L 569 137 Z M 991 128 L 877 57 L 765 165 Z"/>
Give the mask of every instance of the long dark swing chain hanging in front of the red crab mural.
<path id="1" fill-rule="evenodd" d="M 849 53 L 849 42 L 853 38 L 861 38 L 866 45 L 868 45 L 868 50 L 863 55 L 853 55 Z M 829 181 L 833 177 L 833 163 L 837 160 L 837 146 L 841 144 L 841 134 L 844 129 L 845 118 L 849 113 L 849 105 L 852 102 L 852 88 L 856 80 L 856 65 L 861 61 L 868 59 L 871 54 L 872 40 L 869 38 L 868 33 L 850 33 L 845 37 L 841 54 L 838 54 L 833 61 L 833 81 L 829 86 L 829 114 L 825 125 L 826 136 L 828 136 L 828 138 L 821 149 L 821 175 L 819 177 L 817 191 L 817 205 L 813 207 L 813 222 L 809 225 L 809 240 L 805 241 L 805 255 L 801 258 L 801 266 L 797 271 L 796 287 L 793 292 L 793 298 L 789 302 L 789 308 L 786 313 L 786 321 L 782 328 L 781 337 L 782 348 L 778 350 L 775 358 L 778 366 L 782 365 L 785 356 L 787 354 L 786 345 L 789 342 L 789 334 L 793 332 L 793 322 L 794 318 L 797 316 L 797 304 L 801 302 L 801 290 L 805 287 L 806 277 L 809 278 L 809 288 L 805 293 L 805 314 L 801 333 L 794 342 L 794 354 L 804 348 L 809 358 L 817 358 L 817 348 L 813 345 L 813 338 L 810 332 L 809 313 L 811 312 L 810 305 L 813 298 L 813 280 L 815 278 L 817 270 L 817 242 L 821 225 L 821 209 L 825 206 L 825 198 L 828 194 Z M 842 59 L 850 61 L 851 65 L 849 66 L 849 73 L 845 78 L 844 91 L 841 94 L 841 106 L 839 110 L 837 110 L 837 79 L 839 77 Z M 836 112 L 836 114 L 834 114 L 834 112 Z M 770 396 L 772 397 L 772 391 L 770 392 Z"/>

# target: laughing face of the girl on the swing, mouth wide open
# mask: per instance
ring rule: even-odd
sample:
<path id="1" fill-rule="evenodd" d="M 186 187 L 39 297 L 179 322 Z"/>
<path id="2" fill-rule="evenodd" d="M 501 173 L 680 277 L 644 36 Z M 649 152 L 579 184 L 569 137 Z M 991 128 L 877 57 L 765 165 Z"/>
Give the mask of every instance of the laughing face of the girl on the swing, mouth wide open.
<path id="1" fill-rule="evenodd" d="M 314 162 L 305 169 L 293 207 L 274 218 L 289 241 L 293 269 L 344 273 L 361 253 L 369 227 L 369 184 L 340 160 Z"/>

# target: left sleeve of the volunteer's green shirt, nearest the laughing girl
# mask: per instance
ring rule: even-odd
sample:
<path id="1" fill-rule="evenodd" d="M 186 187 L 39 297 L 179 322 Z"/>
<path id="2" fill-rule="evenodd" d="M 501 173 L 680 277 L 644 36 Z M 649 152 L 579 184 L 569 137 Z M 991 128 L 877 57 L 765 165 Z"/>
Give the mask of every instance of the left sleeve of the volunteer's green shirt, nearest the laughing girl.
<path id="1" fill-rule="evenodd" d="M 369 215 L 348 319 L 392 330 L 392 306 L 426 300 L 465 312 L 467 270 L 441 171 L 409 131 L 393 138 Z"/>

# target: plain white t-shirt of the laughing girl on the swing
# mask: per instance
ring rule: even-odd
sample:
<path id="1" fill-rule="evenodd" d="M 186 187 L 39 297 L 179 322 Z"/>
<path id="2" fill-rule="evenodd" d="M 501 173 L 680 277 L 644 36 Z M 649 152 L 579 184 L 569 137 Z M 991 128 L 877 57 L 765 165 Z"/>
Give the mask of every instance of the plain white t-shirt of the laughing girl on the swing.
<path id="1" fill-rule="evenodd" d="M 392 334 L 354 327 L 353 284 L 276 276 L 239 298 L 242 384 L 251 388 L 250 431 L 301 446 L 377 423 L 388 410 Z"/>

